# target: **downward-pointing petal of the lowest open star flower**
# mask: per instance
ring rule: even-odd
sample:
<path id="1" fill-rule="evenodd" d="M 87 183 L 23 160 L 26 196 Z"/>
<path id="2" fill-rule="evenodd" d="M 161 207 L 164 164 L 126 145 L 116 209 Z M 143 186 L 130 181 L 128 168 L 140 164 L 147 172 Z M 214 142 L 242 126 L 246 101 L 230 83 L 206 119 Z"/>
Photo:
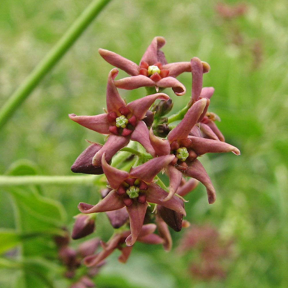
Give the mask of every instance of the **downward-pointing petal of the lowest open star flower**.
<path id="1" fill-rule="evenodd" d="M 147 203 L 141 204 L 139 202 L 134 202 L 133 205 L 127 207 L 127 211 L 130 218 L 130 230 L 131 234 L 126 238 L 126 245 L 133 245 L 141 231 L 145 213 L 147 209 Z"/>

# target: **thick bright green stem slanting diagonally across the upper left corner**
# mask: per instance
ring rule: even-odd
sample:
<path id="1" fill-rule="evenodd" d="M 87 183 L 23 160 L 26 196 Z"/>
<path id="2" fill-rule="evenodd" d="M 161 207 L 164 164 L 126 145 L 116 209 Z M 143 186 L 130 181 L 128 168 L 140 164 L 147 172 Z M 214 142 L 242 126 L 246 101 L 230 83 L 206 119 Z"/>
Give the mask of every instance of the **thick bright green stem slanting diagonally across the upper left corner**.
<path id="1" fill-rule="evenodd" d="M 56 45 L 46 54 L 42 61 L 35 67 L 20 87 L 10 96 L 0 109 L 0 127 L 13 115 L 16 109 L 34 90 L 43 77 L 67 52 L 81 33 L 92 20 L 101 12 L 110 0 L 93 0 L 90 5 L 75 20 L 70 29 L 62 36 Z"/>

